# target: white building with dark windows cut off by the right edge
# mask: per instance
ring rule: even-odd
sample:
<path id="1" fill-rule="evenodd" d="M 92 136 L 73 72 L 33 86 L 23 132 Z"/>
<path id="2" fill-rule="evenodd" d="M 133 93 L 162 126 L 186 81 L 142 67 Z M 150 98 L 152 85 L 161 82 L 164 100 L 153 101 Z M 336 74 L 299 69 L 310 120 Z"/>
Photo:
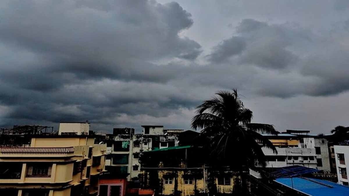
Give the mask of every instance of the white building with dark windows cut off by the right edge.
<path id="1" fill-rule="evenodd" d="M 348 186 L 349 146 L 335 145 L 334 153 L 336 157 L 338 183 Z"/>

